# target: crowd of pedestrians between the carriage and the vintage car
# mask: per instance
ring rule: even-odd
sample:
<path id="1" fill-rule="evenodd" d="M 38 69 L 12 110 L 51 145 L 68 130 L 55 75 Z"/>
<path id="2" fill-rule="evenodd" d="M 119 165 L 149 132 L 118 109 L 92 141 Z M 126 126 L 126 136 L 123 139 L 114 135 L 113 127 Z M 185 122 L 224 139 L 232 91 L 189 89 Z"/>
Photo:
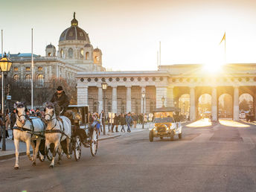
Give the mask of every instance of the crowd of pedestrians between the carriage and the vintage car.
<path id="1" fill-rule="evenodd" d="M 99 134 L 106 130 L 106 124 L 108 125 L 109 132 L 119 132 L 118 127 L 121 126 L 121 132 L 125 132 L 124 127 L 127 126 L 127 132 L 131 132 L 131 128 L 136 128 L 137 124 L 147 124 L 148 116 L 143 114 L 136 114 L 136 113 L 121 113 L 117 115 L 115 113 L 114 118 L 109 118 L 109 115 L 106 115 L 105 112 L 102 110 L 100 114 L 97 112 L 89 113 L 89 123 L 92 124 L 95 121 L 95 118 L 98 121 L 98 129 Z"/>

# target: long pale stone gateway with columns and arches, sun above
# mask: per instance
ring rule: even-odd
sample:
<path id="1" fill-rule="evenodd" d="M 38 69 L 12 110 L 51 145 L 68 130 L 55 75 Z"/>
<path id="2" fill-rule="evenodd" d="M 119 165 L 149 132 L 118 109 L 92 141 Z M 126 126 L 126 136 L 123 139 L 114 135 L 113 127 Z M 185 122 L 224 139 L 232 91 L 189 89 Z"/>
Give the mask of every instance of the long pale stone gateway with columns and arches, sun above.
<path id="1" fill-rule="evenodd" d="M 161 65 L 158 71 L 101 71 L 77 73 L 77 104 L 89 104 L 91 111 L 100 112 L 152 112 L 156 107 L 183 107 L 182 95 L 189 95 L 183 113 L 191 121 L 199 118 L 199 100 L 211 96 L 211 118 L 221 115 L 220 97 L 230 95 L 228 115 L 239 120 L 240 95 L 248 93 L 255 98 L 256 64 L 227 64 L 215 74 L 204 71 L 203 65 Z M 102 89 L 106 82 L 108 88 Z M 144 98 L 141 93 L 145 92 Z M 255 114 L 255 99 L 251 105 Z"/>

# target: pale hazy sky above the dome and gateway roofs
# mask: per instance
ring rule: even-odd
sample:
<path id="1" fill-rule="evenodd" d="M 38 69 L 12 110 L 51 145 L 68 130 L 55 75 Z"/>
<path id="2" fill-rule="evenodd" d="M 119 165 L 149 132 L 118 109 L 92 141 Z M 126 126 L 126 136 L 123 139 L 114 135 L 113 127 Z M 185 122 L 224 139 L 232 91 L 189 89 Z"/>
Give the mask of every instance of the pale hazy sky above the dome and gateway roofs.
<path id="1" fill-rule="evenodd" d="M 113 71 L 156 70 L 161 65 L 256 63 L 255 0 L 0 0 L 4 51 L 45 56 L 71 25 L 89 33 Z M 224 42 L 226 33 L 226 54 Z M 226 57 L 226 59 L 224 59 Z"/>

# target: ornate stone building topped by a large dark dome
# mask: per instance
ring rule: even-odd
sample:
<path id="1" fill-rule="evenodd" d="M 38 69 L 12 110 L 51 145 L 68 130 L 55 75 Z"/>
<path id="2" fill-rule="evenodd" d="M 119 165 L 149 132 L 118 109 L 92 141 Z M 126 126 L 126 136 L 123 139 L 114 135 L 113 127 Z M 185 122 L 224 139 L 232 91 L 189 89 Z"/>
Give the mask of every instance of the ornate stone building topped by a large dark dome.
<path id="1" fill-rule="evenodd" d="M 31 54 L 8 54 L 13 61 L 10 77 L 14 82 L 31 82 Z M 44 86 L 52 78 L 64 78 L 68 83 L 76 83 L 78 71 L 105 71 L 102 66 L 102 52 L 93 48 L 88 33 L 78 27 L 75 18 L 71 26 L 60 34 L 58 50 L 47 45 L 45 56 L 33 54 L 33 77 L 36 86 Z"/>

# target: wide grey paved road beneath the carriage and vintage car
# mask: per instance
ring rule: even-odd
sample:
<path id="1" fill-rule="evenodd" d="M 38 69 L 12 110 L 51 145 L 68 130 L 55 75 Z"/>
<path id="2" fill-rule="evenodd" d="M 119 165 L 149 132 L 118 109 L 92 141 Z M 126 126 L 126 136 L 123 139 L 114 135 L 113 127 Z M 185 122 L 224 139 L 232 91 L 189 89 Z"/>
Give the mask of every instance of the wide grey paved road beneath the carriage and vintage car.
<path id="1" fill-rule="evenodd" d="M 0 191 L 256 191 L 256 126 L 185 127 L 181 141 L 148 140 L 148 131 L 100 141 L 96 157 L 0 161 Z"/>

